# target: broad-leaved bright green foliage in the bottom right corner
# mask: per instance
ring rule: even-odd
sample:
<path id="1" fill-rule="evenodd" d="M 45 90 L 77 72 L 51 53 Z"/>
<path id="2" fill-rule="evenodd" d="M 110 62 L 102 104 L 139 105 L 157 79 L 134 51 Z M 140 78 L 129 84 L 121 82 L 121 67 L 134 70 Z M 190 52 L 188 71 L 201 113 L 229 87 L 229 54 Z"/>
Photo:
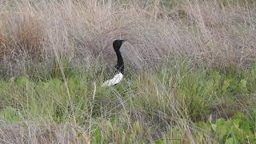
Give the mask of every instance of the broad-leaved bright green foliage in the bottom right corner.
<path id="1" fill-rule="evenodd" d="M 206 133 L 212 133 L 221 143 L 255 143 L 256 114 L 235 114 L 230 119 L 218 118 L 216 122 L 195 122 L 194 125 Z"/>

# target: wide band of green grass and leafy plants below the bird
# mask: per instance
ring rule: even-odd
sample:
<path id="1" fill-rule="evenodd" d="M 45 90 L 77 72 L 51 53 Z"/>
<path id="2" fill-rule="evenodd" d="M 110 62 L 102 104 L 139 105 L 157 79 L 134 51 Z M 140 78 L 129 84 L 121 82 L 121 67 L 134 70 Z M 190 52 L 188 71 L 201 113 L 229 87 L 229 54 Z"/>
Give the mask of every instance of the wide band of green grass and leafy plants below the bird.
<path id="1" fill-rule="evenodd" d="M 66 70 L 66 79 L 9 78 L 0 81 L 0 118 L 91 127 L 93 143 L 187 141 L 183 126 L 195 127 L 195 142 L 210 135 L 215 142 L 255 142 L 255 72 L 166 64 L 110 88 L 100 86 L 99 75 L 95 95 L 90 70 Z"/>

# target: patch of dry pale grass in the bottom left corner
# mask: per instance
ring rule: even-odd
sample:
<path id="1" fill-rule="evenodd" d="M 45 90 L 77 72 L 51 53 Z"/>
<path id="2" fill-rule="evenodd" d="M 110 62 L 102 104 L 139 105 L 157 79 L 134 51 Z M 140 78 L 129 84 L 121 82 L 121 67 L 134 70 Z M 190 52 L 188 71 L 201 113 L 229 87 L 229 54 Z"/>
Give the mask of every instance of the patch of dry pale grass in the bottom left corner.
<path id="1" fill-rule="evenodd" d="M 86 133 L 68 124 L 33 124 L 0 122 L 0 143 L 90 143 Z"/>

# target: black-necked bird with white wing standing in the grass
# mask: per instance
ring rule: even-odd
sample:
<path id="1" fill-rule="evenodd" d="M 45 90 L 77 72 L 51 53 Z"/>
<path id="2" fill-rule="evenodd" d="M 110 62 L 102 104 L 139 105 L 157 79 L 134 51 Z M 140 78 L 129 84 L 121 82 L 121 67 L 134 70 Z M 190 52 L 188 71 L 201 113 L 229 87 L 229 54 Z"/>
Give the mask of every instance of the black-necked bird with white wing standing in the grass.
<path id="1" fill-rule="evenodd" d="M 115 86 L 116 84 L 118 84 L 119 82 L 121 82 L 122 78 L 123 78 L 123 74 L 124 74 L 124 63 L 123 63 L 123 59 L 122 59 L 122 54 L 120 51 L 120 48 L 122 46 L 122 43 L 126 42 L 126 39 L 116 39 L 113 42 L 113 48 L 114 48 L 114 52 L 117 55 L 118 58 L 118 62 L 117 65 L 114 66 L 115 71 L 114 71 L 114 78 L 107 80 L 106 82 L 102 83 L 102 86 Z"/>

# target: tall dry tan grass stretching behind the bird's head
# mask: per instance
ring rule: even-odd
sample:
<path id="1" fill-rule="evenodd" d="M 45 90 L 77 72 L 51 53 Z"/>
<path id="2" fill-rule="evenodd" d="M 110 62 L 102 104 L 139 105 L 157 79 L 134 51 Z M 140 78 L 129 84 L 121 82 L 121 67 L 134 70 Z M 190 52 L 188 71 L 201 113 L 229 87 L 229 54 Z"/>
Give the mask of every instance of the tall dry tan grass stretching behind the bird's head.
<path id="1" fill-rule="evenodd" d="M 208 66 L 244 66 L 254 60 L 254 7 L 182 1 L 162 9 L 160 4 L 90 0 L 2 3 L 0 57 L 10 61 L 26 54 L 47 62 L 65 54 L 78 66 L 94 58 L 112 62 L 111 42 L 127 38 L 122 51 L 126 62 L 137 68 L 153 66 L 166 57 L 189 58 Z"/>

